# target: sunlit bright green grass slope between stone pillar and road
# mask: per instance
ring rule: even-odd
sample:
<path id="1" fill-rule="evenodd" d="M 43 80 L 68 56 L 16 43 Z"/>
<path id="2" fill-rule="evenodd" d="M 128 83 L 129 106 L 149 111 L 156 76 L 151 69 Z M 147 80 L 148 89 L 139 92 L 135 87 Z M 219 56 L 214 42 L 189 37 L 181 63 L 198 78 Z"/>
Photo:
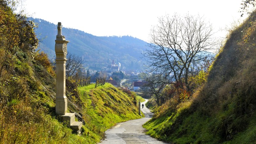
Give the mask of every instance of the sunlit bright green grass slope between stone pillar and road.
<path id="1" fill-rule="evenodd" d="M 118 122 L 141 118 L 137 112 L 138 100 L 135 93 L 126 93 L 110 83 L 97 88 L 94 84 L 79 87 L 78 91 L 84 104 L 81 111 L 83 119 L 87 129 L 98 135 L 96 142 L 99 142 L 107 129 Z"/>

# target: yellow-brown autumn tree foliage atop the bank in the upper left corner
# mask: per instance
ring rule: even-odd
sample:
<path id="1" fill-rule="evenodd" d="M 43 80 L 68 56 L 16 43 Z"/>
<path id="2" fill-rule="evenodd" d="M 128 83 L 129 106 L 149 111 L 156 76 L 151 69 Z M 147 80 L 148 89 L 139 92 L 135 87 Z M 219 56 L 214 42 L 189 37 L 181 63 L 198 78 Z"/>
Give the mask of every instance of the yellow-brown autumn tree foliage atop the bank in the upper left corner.
<path id="1" fill-rule="evenodd" d="M 28 21 L 22 14 L 13 13 L 14 8 L 15 1 L 0 1 L 0 79 L 4 69 L 7 68 L 6 63 L 10 59 L 10 52 L 20 48 L 24 52 L 33 54 L 38 45 L 34 23 Z"/>

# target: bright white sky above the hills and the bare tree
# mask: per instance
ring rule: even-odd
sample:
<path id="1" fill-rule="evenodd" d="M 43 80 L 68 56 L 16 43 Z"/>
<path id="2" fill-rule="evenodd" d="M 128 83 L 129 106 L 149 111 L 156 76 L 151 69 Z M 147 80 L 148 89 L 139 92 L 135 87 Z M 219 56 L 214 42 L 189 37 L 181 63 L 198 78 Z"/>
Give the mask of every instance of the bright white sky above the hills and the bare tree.
<path id="1" fill-rule="evenodd" d="M 33 18 L 56 25 L 61 22 L 63 27 L 96 36 L 129 35 L 149 42 L 150 29 L 158 24 L 158 17 L 174 13 L 199 14 L 212 24 L 218 37 L 225 37 L 227 32 L 220 29 L 241 19 L 241 3 L 242 0 L 24 0 L 22 9 Z"/>

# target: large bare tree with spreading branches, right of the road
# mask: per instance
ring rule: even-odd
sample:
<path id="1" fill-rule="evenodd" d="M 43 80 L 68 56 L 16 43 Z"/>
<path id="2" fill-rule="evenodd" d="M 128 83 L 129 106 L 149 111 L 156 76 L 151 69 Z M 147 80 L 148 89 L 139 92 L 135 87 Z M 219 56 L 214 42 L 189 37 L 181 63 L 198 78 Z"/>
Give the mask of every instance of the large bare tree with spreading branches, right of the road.
<path id="1" fill-rule="evenodd" d="M 212 59 L 210 50 L 216 45 L 212 26 L 200 16 L 167 15 L 159 18 L 150 36 L 149 49 L 143 53 L 147 72 L 158 74 L 155 83 L 178 83 L 190 91 L 189 77 Z"/>

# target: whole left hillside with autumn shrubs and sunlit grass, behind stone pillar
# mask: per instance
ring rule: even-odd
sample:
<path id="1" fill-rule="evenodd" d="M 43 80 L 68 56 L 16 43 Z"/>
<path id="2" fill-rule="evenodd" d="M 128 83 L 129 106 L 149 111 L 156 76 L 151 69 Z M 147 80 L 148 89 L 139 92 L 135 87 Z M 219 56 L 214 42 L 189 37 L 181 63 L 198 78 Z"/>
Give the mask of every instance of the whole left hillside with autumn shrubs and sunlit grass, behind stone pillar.
<path id="1" fill-rule="evenodd" d="M 55 114 L 56 75 L 47 54 L 35 51 L 35 25 L 11 2 L 0 1 L 0 144 L 91 144 L 115 123 L 140 117 L 135 93 L 108 83 L 77 88 L 67 79 L 68 112 L 85 123 L 81 136 L 72 134 Z"/>

